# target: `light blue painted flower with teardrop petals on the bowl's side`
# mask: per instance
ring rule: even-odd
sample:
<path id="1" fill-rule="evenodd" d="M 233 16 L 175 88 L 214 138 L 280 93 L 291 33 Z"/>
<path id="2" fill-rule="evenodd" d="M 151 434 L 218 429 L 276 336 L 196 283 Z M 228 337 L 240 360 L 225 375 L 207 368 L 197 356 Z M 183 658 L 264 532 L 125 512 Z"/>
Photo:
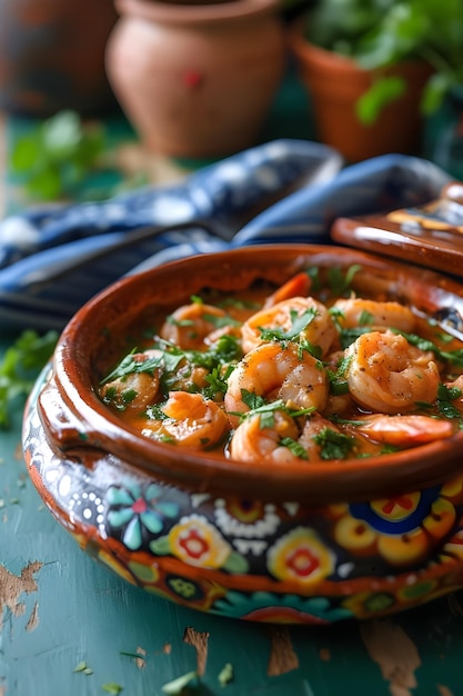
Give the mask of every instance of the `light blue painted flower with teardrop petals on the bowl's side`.
<path id="1" fill-rule="evenodd" d="M 157 535 L 162 531 L 167 517 L 177 517 L 179 506 L 162 500 L 162 487 L 155 484 L 150 484 L 144 490 L 138 484 L 108 489 L 108 523 L 115 529 L 124 527 L 122 541 L 131 550 L 142 545 L 143 528 Z"/>

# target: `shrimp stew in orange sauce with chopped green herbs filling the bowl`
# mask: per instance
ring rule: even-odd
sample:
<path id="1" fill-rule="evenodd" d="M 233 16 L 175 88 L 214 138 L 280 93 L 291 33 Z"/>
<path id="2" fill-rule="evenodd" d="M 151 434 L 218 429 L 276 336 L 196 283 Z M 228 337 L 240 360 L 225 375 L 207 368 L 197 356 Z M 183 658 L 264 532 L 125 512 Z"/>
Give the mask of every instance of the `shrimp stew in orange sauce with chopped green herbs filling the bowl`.
<path id="1" fill-rule="evenodd" d="M 160 315 L 99 396 L 148 438 L 259 466 L 386 456 L 462 429 L 462 344 L 395 300 L 343 292 L 306 272 L 204 291 Z"/>

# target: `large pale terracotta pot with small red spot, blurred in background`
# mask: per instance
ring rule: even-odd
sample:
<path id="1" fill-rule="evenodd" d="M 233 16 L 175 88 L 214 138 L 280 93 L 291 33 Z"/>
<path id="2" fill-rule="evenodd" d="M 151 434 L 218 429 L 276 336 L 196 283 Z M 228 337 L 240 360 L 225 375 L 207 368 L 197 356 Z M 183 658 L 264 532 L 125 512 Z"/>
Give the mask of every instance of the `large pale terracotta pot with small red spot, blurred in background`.
<path id="1" fill-rule="evenodd" d="M 117 0 L 107 71 L 149 149 L 221 157 L 256 142 L 284 68 L 278 7 Z"/>

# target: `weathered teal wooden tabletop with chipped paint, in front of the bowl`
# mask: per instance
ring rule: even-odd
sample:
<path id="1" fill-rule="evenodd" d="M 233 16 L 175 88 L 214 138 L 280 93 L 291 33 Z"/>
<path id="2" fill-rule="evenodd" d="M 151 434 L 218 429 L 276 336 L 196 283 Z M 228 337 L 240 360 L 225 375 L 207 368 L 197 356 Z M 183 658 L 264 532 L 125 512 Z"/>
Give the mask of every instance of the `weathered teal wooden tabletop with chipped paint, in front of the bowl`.
<path id="1" fill-rule="evenodd" d="M 463 593 L 381 620 L 289 627 L 202 614 L 114 576 L 29 480 L 21 411 L 0 430 L 1 696 L 162 696 L 191 672 L 199 696 L 463 695 Z"/>

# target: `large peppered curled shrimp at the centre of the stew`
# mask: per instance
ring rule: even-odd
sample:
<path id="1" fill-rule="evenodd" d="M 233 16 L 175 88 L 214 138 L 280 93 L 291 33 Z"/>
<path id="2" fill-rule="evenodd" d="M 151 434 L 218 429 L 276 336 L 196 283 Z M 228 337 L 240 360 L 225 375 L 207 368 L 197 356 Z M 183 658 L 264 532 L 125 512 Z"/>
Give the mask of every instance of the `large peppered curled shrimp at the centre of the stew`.
<path id="1" fill-rule="evenodd" d="M 225 410 L 232 425 L 236 412 L 250 407 L 243 400 L 246 392 L 272 401 L 282 399 L 299 408 L 322 410 L 326 404 L 329 379 L 322 362 L 295 344 L 262 344 L 236 365 L 228 378 Z"/>

